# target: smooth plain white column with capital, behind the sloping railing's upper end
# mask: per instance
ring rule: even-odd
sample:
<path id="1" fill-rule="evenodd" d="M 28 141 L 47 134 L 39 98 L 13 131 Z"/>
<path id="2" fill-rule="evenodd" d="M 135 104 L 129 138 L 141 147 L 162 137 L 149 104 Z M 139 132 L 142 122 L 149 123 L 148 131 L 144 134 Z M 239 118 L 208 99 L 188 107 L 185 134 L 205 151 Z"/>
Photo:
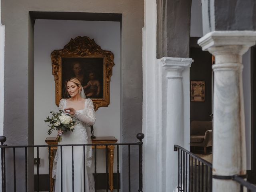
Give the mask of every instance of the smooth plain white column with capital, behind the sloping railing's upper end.
<path id="1" fill-rule="evenodd" d="M 165 161 L 163 170 L 165 175 L 165 178 L 163 178 L 165 188 L 163 188 L 163 191 L 174 191 L 178 185 L 178 176 L 176 174 L 178 173 L 178 153 L 173 151 L 174 144 L 187 148 L 184 143 L 184 92 L 182 72 L 185 68 L 189 67 L 192 62 L 193 60 L 191 58 L 164 57 L 161 59 L 163 67 L 162 150 L 164 150 L 163 160 Z M 187 88 L 189 89 L 189 87 Z M 166 114 L 164 113 L 165 111 Z"/>

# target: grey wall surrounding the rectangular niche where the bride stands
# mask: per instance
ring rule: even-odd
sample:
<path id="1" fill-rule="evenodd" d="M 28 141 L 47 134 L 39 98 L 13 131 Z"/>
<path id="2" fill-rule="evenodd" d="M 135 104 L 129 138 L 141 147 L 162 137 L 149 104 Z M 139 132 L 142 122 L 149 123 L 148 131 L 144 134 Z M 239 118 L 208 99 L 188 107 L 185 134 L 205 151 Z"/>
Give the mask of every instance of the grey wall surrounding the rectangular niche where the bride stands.
<path id="1" fill-rule="evenodd" d="M 136 133 L 142 130 L 143 0 L 2 0 L 1 9 L 2 24 L 5 25 L 4 135 L 7 144 L 34 144 L 33 19 L 30 19 L 29 11 L 122 14 L 121 142 L 136 141 Z M 86 16 L 82 20 L 86 20 Z M 132 155 L 135 164 L 137 155 Z M 30 157 L 33 158 L 33 152 Z M 123 154 L 123 166 L 127 165 L 126 157 Z M 31 187 L 33 168 L 33 165 L 29 168 Z M 24 191 L 23 168 L 16 172 L 22 175 L 18 180 L 18 190 Z M 122 174 L 123 187 L 127 189 L 128 174 L 126 170 L 122 170 Z M 138 174 L 135 172 L 134 175 Z M 12 172 L 8 178 L 13 178 Z M 137 180 L 137 177 L 132 177 L 133 183 Z M 11 191 L 12 186 L 8 190 Z M 132 185 L 132 191 L 135 190 L 138 190 L 137 184 Z"/>

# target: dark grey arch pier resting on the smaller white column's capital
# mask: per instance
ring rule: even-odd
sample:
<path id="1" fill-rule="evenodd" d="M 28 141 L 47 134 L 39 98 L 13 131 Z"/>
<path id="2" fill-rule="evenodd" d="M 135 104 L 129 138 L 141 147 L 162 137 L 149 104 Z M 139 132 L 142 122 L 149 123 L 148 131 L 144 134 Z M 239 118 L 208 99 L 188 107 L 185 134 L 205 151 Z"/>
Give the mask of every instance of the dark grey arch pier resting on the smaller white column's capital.
<path id="1" fill-rule="evenodd" d="M 191 0 L 157 1 L 157 58 L 188 58 L 190 12 Z"/>

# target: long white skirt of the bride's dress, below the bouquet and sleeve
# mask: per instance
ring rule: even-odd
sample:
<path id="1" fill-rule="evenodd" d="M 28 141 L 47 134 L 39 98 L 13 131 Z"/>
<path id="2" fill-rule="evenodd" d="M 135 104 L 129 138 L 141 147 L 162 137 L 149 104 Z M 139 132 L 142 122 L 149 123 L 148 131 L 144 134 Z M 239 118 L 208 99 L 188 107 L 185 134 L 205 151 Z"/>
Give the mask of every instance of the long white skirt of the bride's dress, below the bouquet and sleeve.
<path id="1" fill-rule="evenodd" d="M 82 140 L 78 139 L 78 134 L 80 136 L 79 138 L 81 138 L 81 134 L 83 135 Z M 83 126 L 75 126 L 74 132 L 65 132 L 62 135 L 62 141 L 63 142 L 59 144 L 86 144 L 90 142 L 90 138 L 88 138 Z M 92 164 L 91 157 L 91 146 L 73 146 L 74 172 L 72 172 L 72 146 L 62 146 L 61 174 L 61 152 L 60 147 L 58 147 L 52 170 L 52 177 L 55 178 L 54 191 L 84 192 L 85 188 L 86 192 L 94 192 L 94 178 L 92 173 L 88 173 L 88 170 Z M 73 173 L 74 181 L 72 180 Z"/>

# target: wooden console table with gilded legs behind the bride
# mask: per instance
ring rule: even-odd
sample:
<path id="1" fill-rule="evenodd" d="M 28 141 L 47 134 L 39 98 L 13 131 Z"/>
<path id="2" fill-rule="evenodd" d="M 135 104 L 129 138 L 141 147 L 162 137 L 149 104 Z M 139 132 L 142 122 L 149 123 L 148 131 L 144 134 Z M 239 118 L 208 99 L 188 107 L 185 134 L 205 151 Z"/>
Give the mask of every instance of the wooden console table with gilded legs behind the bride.
<path id="1" fill-rule="evenodd" d="M 47 137 L 45 142 L 50 145 L 57 145 L 58 142 L 56 141 L 56 137 Z M 103 144 L 103 143 L 116 143 L 117 139 L 115 137 L 96 137 L 95 139 L 92 139 L 92 144 Z M 50 150 L 50 186 L 51 186 L 51 192 L 53 191 L 53 185 L 54 185 L 54 179 L 52 178 L 52 165 L 54 160 L 54 150 L 56 150 L 58 147 L 54 146 L 51 147 Z M 94 146 L 92 146 L 94 148 Z M 97 145 L 97 149 L 105 149 L 105 145 Z M 108 185 L 109 189 L 112 192 L 114 186 L 113 186 L 113 165 L 114 165 L 114 145 L 108 145 Z"/>

